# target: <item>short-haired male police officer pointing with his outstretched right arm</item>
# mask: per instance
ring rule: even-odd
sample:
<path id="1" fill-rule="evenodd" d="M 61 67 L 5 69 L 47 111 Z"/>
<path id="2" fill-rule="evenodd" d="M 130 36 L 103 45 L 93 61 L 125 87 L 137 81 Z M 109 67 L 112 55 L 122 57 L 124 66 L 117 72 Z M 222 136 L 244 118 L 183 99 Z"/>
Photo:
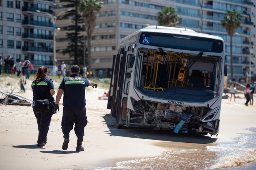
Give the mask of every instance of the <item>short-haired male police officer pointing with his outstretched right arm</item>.
<path id="1" fill-rule="evenodd" d="M 87 124 L 86 108 L 85 108 L 85 87 L 98 85 L 94 82 L 79 77 L 80 68 L 77 65 L 71 67 L 70 77 L 63 78 L 60 83 L 59 91 L 56 96 L 55 112 L 59 111 L 59 102 L 63 96 L 63 116 L 61 120 L 61 129 L 63 132 L 64 142 L 63 150 L 68 149 L 69 132 L 73 129 L 75 122 L 75 134 L 77 137 L 76 151 L 84 151 L 82 147 L 84 127 Z"/>

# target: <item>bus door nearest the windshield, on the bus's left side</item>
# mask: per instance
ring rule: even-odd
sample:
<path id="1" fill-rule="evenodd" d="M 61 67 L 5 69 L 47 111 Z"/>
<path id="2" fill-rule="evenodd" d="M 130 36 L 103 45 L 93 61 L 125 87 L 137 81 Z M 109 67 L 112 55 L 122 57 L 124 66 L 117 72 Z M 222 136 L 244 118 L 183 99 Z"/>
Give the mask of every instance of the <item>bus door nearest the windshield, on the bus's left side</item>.
<path id="1" fill-rule="evenodd" d="M 127 98 L 129 93 L 129 85 L 131 78 L 131 70 L 134 64 L 135 56 L 132 52 L 125 51 L 123 56 L 120 58 L 120 70 L 118 78 L 119 93 L 117 96 L 117 112 L 116 112 L 116 122 L 117 128 L 123 129 L 125 125 L 126 110 L 127 110 Z"/>

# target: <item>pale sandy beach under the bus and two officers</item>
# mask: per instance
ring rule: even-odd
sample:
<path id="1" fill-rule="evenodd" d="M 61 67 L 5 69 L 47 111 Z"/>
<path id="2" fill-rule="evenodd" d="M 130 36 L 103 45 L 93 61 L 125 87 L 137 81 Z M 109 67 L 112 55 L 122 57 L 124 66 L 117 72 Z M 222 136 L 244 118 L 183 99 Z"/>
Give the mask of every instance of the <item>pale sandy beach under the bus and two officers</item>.
<path id="1" fill-rule="evenodd" d="M 0 77 L 0 82 L 1 91 L 13 92 L 32 100 L 33 92 L 30 87 L 32 78 L 27 80 L 26 93 L 19 93 L 18 78 L 15 83 L 12 83 L 12 78 Z M 54 82 L 56 94 L 59 83 Z M 170 151 L 200 150 L 196 154 L 200 155 L 209 147 L 237 143 L 241 134 L 255 133 L 249 128 L 256 128 L 256 103 L 246 107 L 243 94 L 239 94 L 240 98 L 237 98 L 236 102 L 233 100 L 230 102 L 230 99 L 222 100 L 218 136 L 199 137 L 150 129 L 117 129 L 115 118 L 110 115 L 110 110 L 106 109 L 108 100 L 98 99 L 104 92 L 107 92 L 106 89 L 101 87 L 86 88 L 88 124 L 85 127 L 84 151 L 82 152 L 75 151 L 77 138 L 74 129 L 70 132 L 68 149 L 66 151 L 61 149 L 63 144 L 61 131 L 63 98 L 59 104 L 60 112 L 52 116 L 47 136 L 48 141 L 44 147 L 37 147 L 38 129 L 32 106 L 0 105 L 0 169 L 57 170 L 118 167 L 120 166 L 119 162 L 122 161 L 155 158 Z M 188 151 L 183 155 L 193 158 L 193 154 Z M 196 169 L 207 169 L 216 164 L 218 155 L 213 154 L 208 157 L 213 159 L 212 165 Z M 198 159 L 204 158 L 199 157 Z M 179 160 L 182 162 L 177 158 L 177 161 Z M 255 158 L 251 162 L 254 161 Z"/>

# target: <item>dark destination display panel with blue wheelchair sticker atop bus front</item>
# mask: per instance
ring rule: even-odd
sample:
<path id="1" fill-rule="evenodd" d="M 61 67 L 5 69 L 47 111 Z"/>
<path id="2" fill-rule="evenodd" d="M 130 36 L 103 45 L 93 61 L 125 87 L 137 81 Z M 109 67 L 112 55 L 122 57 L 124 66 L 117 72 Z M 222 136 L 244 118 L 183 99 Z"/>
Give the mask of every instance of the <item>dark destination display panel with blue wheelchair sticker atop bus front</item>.
<path id="1" fill-rule="evenodd" d="M 218 53 L 223 51 L 223 43 L 221 40 L 187 35 L 181 36 L 170 33 L 142 32 L 140 34 L 139 42 L 144 45 L 176 48 L 181 50 Z"/>

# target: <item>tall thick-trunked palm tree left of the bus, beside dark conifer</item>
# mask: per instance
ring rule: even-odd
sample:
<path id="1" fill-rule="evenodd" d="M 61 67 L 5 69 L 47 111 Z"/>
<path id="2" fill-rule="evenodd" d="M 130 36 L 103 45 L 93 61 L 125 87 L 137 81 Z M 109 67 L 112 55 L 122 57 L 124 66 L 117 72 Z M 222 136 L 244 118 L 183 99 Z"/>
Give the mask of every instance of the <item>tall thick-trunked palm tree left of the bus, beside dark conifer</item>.
<path id="1" fill-rule="evenodd" d="M 102 8 L 102 1 L 99 0 L 82 0 L 79 4 L 79 11 L 82 12 L 87 38 L 88 38 L 88 55 L 87 55 L 87 61 L 88 61 L 88 67 L 87 70 L 91 71 L 91 38 L 93 35 L 93 29 L 96 26 L 96 16 L 95 11 L 100 11 Z M 90 77 L 90 75 L 89 75 Z"/>

